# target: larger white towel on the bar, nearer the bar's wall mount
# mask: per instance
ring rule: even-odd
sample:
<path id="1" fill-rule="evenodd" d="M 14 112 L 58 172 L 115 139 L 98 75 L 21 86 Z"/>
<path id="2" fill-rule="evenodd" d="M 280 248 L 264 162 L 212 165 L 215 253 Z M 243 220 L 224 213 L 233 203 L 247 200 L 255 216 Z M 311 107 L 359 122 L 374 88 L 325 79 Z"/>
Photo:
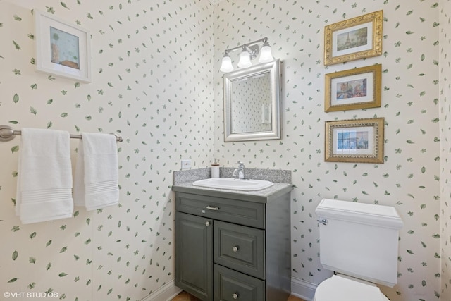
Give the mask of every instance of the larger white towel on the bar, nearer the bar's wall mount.
<path id="1" fill-rule="evenodd" d="M 72 216 L 69 140 L 62 130 L 22 129 L 16 195 L 16 215 L 22 223 Z"/>

